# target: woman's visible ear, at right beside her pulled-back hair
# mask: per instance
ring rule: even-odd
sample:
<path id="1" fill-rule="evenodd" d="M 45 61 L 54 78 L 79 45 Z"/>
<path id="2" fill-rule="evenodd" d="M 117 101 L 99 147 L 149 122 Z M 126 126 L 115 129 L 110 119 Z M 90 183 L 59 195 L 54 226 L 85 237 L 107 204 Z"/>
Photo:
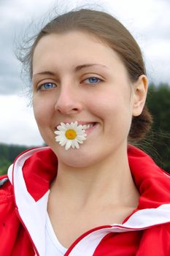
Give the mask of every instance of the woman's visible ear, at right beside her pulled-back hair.
<path id="1" fill-rule="evenodd" d="M 146 75 L 140 75 L 134 83 L 133 116 L 139 116 L 147 98 L 148 80 Z"/>

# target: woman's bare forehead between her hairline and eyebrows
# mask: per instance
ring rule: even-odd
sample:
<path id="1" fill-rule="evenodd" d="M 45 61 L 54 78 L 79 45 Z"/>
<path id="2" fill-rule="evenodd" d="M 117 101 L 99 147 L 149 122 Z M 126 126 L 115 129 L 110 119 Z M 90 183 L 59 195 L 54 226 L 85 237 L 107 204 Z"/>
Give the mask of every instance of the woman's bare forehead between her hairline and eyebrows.
<path id="1" fill-rule="evenodd" d="M 34 50 L 33 70 L 44 66 L 98 63 L 112 67 L 123 65 L 120 57 L 100 39 L 82 31 L 49 34 L 39 40 Z"/>

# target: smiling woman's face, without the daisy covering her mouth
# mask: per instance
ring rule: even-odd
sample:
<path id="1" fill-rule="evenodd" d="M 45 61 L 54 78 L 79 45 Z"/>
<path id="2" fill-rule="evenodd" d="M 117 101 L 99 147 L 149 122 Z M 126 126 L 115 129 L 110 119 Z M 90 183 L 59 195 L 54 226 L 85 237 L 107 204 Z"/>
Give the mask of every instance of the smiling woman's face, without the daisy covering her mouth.
<path id="1" fill-rule="evenodd" d="M 134 93 L 117 53 L 80 31 L 40 39 L 33 59 L 34 115 L 58 160 L 85 167 L 127 146 Z M 55 142 L 61 122 L 93 123 L 79 149 Z"/>

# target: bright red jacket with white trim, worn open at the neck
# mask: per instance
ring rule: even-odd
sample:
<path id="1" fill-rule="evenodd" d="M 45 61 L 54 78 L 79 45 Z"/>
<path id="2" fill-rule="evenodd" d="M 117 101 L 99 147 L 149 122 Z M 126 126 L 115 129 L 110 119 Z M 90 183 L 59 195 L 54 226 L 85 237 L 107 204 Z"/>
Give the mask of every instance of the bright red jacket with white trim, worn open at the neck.
<path id="1" fill-rule="evenodd" d="M 128 147 L 139 206 L 122 225 L 78 238 L 66 256 L 170 255 L 170 176 L 144 152 Z M 0 181 L 0 256 L 45 256 L 45 218 L 57 159 L 50 148 L 20 154 Z M 49 255 L 50 256 L 50 255 Z"/>

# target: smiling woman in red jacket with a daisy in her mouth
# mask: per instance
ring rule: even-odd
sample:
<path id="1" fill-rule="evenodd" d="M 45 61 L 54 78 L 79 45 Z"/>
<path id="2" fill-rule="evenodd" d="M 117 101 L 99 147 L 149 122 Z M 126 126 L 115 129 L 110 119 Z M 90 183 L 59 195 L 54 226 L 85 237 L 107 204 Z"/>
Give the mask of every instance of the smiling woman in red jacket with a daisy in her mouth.
<path id="1" fill-rule="evenodd" d="M 23 59 L 47 147 L 1 178 L 1 255 L 170 255 L 170 179 L 128 144 L 144 138 L 142 54 L 94 10 L 50 21 Z"/>

